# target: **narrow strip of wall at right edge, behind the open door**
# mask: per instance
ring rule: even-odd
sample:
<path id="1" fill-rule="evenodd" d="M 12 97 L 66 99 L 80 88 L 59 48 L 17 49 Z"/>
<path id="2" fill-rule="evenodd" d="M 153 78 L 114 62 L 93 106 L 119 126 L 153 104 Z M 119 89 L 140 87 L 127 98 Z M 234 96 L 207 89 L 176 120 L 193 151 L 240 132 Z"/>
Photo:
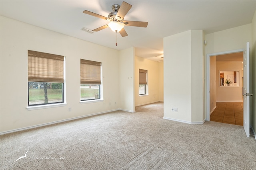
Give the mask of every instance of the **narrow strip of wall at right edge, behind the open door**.
<path id="1" fill-rule="evenodd" d="M 254 13 L 253 19 L 252 19 L 252 57 L 251 57 L 251 66 L 250 68 L 252 69 L 251 72 L 251 93 L 253 96 L 250 98 L 251 102 L 251 125 L 252 129 L 254 130 L 254 134 L 256 133 L 256 11 Z M 255 137 L 256 139 L 256 137 Z"/>

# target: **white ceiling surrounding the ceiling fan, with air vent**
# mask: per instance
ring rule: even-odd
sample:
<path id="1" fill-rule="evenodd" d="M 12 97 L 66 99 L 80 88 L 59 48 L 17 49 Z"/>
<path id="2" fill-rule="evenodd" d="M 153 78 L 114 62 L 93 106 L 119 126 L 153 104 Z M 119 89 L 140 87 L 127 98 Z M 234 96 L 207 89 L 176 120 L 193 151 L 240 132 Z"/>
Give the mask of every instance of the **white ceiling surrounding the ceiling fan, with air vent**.
<path id="1" fill-rule="evenodd" d="M 135 55 L 161 61 L 163 38 L 202 29 L 205 34 L 251 23 L 256 10 L 254 0 L 126 0 L 132 5 L 125 20 L 147 21 L 148 27 L 125 26 L 127 37 L 110 28 L 92 34 L 90 30 L 108 23 L 86 15 L 84 10 L 108 17 L 113 4 L 121 0 L 1 0 L 0 14 L 8 18 L 70 35 L 85 41 L 122 50 L 135 47 Z"/>

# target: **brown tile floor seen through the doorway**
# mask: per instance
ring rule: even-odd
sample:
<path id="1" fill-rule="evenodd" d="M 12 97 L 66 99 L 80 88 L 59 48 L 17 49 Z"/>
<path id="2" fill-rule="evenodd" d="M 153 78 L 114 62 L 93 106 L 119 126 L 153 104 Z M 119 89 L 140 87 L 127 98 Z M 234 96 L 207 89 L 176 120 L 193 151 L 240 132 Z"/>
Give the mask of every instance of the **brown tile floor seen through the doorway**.
<path id="1" fill-rule="evenodd" d="M 210 121 L 243 125 L 243 102 L 217 102 Z"/>

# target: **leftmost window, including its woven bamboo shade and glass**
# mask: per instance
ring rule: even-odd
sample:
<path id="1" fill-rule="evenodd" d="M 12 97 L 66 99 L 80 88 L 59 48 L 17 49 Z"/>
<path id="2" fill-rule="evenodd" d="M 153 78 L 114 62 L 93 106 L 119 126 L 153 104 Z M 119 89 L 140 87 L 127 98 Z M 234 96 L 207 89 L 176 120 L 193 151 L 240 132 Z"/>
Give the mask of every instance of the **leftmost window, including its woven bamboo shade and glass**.
<path id="1" fill-rule="evenodd" d="M 28 50 L 28 106 L 64 102 L 64 56 Z"/>

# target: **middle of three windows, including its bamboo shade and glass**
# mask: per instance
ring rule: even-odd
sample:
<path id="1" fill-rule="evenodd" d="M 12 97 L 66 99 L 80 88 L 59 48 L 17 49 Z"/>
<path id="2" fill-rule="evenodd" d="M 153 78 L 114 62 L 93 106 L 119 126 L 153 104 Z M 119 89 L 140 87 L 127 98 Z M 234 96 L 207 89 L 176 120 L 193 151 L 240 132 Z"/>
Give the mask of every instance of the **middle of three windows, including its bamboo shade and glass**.
<path id="1" fill-rule="evenodd" d="M 101 63 L 80 60 L 80 100 L 100 99 Z"/>

